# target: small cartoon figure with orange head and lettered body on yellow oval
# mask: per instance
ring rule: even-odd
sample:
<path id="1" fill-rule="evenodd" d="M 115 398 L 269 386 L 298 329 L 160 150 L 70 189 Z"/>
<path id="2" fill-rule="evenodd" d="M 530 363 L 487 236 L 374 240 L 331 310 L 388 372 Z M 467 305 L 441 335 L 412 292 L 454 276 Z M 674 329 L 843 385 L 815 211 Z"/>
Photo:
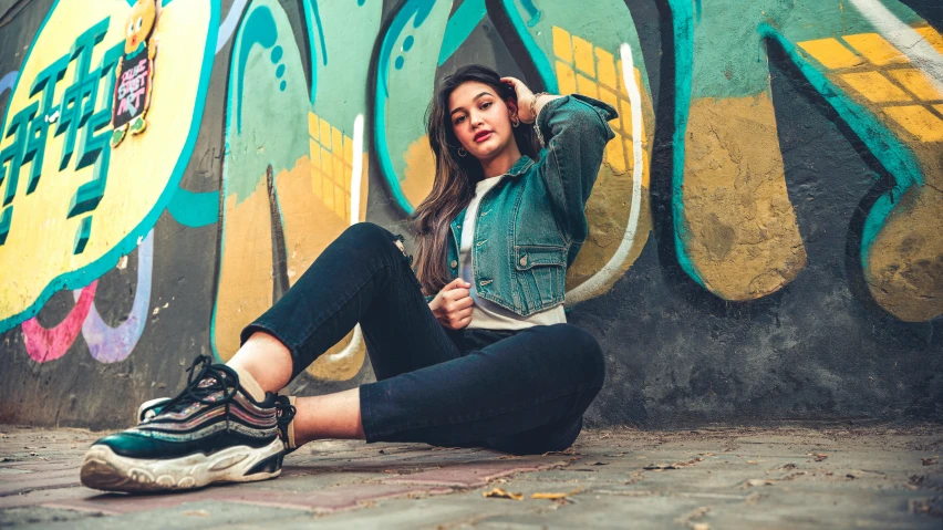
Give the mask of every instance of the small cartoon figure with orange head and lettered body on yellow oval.
<path id="1" fill-rule="evenodd" d="M 157 22 L 155 0 L 137 0 L 127 17 L 124 56 L 115 69 L 115 101 L 112 103 L 112 147 L 121 145 L 131 133 L 147 128 L 145 115 L 151 106 L 154 79 L 154 58 L 157 39 L 151 37 Z"/>

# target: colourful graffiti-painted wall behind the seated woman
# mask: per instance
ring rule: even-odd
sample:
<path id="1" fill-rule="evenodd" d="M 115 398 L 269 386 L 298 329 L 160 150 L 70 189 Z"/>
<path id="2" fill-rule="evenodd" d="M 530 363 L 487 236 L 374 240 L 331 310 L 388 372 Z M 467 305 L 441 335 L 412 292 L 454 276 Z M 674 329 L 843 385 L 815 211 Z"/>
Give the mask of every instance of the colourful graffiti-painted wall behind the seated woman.
<path id="1" fill-rule="evenodd" d="M 619 111 L 567 276 L 567 318 L 609 360 L 591 425 L 943 417 L 936 2 L 0 17 L 2 422 L 126 425 L 196 354 L 228 360 L 348 226 L 407 233 L 426 106 L 469 63 Z M 354 329 L 290 389 L 372 380 Z"/>

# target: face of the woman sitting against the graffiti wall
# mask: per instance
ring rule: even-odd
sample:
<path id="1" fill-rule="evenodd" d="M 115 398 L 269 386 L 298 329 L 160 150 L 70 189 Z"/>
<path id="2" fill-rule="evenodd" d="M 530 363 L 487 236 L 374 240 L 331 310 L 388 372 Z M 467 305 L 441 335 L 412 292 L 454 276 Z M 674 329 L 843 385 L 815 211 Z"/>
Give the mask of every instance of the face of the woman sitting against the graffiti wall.
<path id="1" fill-rule="evenodd" d="M 462 83 L 448 98 L 448 111 L 455 136 L 475 158 L 487 160 L 516 145 L 511 116 L 517 116 L 517 108 L 490 86 L 476 81 Z"/>

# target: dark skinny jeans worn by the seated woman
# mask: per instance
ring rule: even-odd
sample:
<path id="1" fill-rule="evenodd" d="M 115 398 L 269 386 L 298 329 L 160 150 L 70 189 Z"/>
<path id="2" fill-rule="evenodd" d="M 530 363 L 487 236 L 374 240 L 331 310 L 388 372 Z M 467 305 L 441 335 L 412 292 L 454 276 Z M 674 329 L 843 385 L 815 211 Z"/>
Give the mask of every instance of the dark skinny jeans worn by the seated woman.
<path id="1" fill-rule="evenodd" d="M 241 342 L 273 335 L 291 352 L 293 378 L 360 322 L 377 380 L 360 387 L 367 443 L 569 447 L 605 377 L 595 339 L 572 324 L 443 328 L 396 238 L 371 222 L 344 230 Z"/>

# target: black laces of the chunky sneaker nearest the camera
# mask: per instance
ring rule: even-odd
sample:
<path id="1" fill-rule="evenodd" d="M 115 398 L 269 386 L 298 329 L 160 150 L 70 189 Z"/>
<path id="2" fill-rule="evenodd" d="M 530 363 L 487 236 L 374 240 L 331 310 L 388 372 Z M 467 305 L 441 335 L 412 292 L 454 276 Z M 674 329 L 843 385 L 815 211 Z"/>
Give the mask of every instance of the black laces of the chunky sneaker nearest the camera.
<path id="1" fill-rule="evenodd" d="M 197 371 L 197 368 L 199 368 Z M 187 368 L 187 386 L 160 407 L 160 413 L 180 412 L 194 403 L 222 404 L 226 407 L 226 432 L 229 432 L 229 403 L 239 392 L 239 374 L 225 364 L 214 364 L 209 355 L 197 355 Z M 219 398 L 213 396 L 222 392 Z M 293 408 L 293 407 L 292 407 Z M 149 418 L 145 422 L 148 422 Z"/>

